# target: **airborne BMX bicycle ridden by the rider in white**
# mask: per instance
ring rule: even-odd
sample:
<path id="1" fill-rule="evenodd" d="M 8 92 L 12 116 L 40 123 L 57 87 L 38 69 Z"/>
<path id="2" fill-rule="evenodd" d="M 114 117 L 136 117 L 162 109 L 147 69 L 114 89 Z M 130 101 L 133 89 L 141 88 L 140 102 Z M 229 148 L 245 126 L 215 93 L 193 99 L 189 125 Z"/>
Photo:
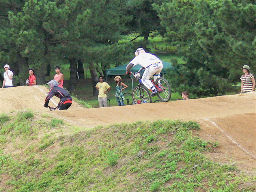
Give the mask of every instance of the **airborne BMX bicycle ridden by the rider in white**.
<path id="1" fill-rule="evenodd" d="M 133 89 L 132 93 L 133 102 L 135 104 L 152 103 L 152 97 L 155 96 L 151 96 L 151 91 L 149 91 L 149 89 L 142 84 L 140 73 L 143 69 L 144 68 L 142 67 L 136 73 L 131 73 L 136 79 L 139 80 L 138 86 Z M 163 77 L 159 77 L 155 81 L 153 80 L 153 77 L 151 77 L 150 80 L 158 91 L 156 95 L 158 96 L 159 100 L 162 102 L 169 101 L 171 99 L 172 92 L 168 81 Z"/>

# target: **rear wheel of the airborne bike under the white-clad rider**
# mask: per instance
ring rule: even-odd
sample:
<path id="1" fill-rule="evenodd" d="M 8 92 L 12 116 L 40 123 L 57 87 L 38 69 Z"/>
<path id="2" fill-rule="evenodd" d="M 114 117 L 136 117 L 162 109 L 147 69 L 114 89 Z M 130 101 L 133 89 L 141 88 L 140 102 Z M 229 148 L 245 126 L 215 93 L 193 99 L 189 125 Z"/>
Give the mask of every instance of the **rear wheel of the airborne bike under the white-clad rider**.
<path id="1" fill-rule="evenodd" d="M 163 89 L 163 91 L 157 93 L 157 96 L 159 97 L 159 99 L 163 102 L 169 101 L 172 96 L 172 91 L 171 91 L 171 86 L 168 83 L 168 81 L 163 77 L 159 77 L 155 81 L 155 84 L 159 88 Z"/>

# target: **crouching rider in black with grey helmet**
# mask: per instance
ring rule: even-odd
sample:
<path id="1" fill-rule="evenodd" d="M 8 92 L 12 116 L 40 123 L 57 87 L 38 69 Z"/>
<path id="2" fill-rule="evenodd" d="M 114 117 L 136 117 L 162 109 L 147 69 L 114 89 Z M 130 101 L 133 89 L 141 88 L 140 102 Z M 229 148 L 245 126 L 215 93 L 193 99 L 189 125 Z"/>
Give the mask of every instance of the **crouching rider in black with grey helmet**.
<path id="1" fill-rule="evenodd" d="M 58 87 L 58 82 L 56 80 L 50 80 L 47 83 L 50 87 L 50 91 L 45 99 L 44 107 L 49 107 L 49 101 L 50 98 L 52 98 L 54 95 L 58 98 L 60 98 L 60 103 L 58 104 L 58 110 L 64 110 L 68 109 L 72 104 L 72 98 L 71 95 L 63 88 Z"/>

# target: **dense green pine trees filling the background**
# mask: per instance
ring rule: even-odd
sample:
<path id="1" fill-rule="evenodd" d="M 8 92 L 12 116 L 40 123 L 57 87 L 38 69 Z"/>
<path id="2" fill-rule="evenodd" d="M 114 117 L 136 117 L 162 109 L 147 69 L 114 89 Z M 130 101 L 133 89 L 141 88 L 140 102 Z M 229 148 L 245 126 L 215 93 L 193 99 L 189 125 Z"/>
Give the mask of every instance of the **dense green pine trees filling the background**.
<path id="1" fill-rule="evenodd" d="M 173 60 L 165 76 L 174 91 L 224 95 L 240 82 L 243 65 L 256 70 L 255 0 L 0 1 L 0 63 L 11 65 L 16 86 L 25 85 L 31 67 L 45 84 L 67 62 L 71 91 L 84 65 L 98 82 L 136 48 L 151 52 L 149 35 L 163 37 L 155 51 L 184 61 Z"/>

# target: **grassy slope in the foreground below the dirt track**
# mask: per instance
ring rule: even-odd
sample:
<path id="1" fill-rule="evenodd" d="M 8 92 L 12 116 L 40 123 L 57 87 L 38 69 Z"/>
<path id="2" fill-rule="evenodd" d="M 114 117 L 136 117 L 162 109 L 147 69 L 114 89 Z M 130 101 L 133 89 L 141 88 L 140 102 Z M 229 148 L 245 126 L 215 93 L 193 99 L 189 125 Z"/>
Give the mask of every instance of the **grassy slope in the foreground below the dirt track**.
<path id="1" fill-rule="evenodd" d="M 37 114 L 22 119 L 26 129 L 15 124 L 17 120 L 20 114 L 8 120 L 13 123 L 8 131 L 2 131 L 6 123 L 0 125 L 0 140 L 5 140 L 0 142 L 0 177 L 6 178 L 2 192 L 256 190 L 255 175 L 204 155 L 218 143 L 194 136 L 200 126 L 192 121 L 138 121 L 78 130 Z M 58 126 L 49 129 L 53 122 Z"/>

